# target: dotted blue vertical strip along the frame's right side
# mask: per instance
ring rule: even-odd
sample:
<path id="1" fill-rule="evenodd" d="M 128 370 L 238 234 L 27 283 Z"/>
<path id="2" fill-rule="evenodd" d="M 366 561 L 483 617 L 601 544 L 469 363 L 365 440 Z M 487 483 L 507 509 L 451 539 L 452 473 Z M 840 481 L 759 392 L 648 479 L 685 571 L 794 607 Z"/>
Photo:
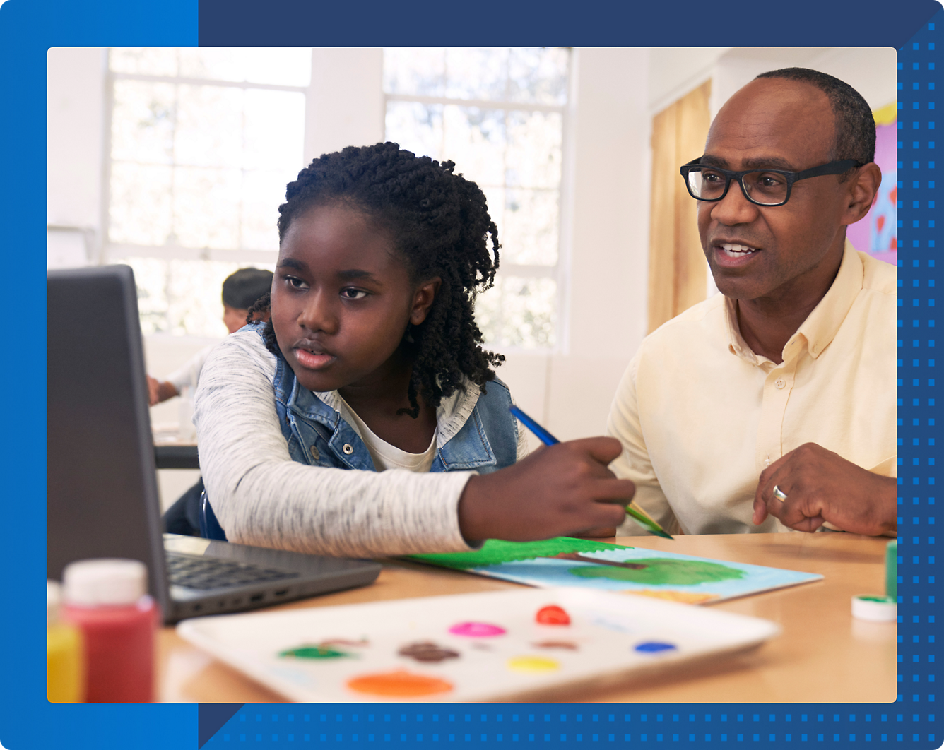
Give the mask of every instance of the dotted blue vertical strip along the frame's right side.
<path id="1" fill-rule="evenodd" d="M 936 50 L 944 12 L 898 55 L 898 700 L 902 735 L 934 734 L 936 633 Z M 944 166 L 944 164 L 942 164 Z M 942 186 L 944 187 L 944 186 Z M 900 716 L 902 714 L 896 715 Z"/>

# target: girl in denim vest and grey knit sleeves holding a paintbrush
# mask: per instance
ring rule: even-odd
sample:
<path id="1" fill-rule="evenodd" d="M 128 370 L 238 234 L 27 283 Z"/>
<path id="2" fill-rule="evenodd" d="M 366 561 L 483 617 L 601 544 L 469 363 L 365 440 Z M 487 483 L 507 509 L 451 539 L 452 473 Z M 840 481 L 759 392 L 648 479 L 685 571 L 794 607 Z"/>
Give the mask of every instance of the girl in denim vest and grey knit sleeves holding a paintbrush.
<path id="1" fill-rule="evenodd" d="M 524 455 L 473 318 L 497 270 L 478 186 L 396 143 L 316 158 L 279 207 L 271 322 L 211 353 L 200 468 L 230 542 L 350 557 L 615 526 L 609 438 Z M 265 303 L 261 305 L 265 307 Z"/>

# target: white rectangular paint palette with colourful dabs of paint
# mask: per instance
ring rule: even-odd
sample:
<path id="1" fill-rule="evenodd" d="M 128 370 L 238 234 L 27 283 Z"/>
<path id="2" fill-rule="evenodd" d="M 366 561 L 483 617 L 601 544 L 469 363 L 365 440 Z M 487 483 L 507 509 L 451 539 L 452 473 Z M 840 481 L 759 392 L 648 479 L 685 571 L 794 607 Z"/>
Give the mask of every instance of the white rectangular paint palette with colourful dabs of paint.
<path id="1" fill-rule="evenodd" d="M 443 702 L 552 700 L 780 628 L 646 597 L 515 589 L 204 617 L 177 632 L 292 700 Z"/>

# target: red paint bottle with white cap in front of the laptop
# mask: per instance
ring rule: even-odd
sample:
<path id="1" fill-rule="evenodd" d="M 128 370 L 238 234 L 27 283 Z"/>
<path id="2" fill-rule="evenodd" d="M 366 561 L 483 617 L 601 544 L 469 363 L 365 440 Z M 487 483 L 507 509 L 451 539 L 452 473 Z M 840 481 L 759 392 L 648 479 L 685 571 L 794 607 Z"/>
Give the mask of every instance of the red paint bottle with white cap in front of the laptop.
<path id="1" fill-rule="evenodd" d="M 151 701 L 160 611 L 146 593 L 147 568 L 130 559 L 80 560 L 62 578 L 65 619 L 81 629 L 85 642 L 85 699 Z"/>

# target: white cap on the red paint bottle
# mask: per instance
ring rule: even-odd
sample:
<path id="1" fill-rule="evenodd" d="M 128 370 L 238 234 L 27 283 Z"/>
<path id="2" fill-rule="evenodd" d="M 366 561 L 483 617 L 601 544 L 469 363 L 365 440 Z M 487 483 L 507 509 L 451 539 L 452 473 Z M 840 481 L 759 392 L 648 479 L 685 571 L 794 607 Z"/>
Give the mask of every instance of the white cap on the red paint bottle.
<path id="1" fill-rule="evenodd" d="M 147 567 L 136 559 L 87 559 L 66 566 L 65 600 L 79 607 L 135 604 L 147 592 Z"/>

